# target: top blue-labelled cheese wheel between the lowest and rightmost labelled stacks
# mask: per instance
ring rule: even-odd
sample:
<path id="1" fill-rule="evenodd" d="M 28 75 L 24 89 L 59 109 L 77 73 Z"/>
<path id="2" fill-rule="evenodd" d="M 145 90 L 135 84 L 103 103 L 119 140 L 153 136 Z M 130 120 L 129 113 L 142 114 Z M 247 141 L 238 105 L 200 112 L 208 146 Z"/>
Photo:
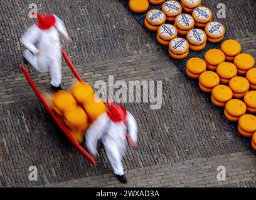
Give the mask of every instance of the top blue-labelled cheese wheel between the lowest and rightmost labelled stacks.
<path id="1" fill-rule="evenodd" d="M 201 46 L 207 40 L 207 36 L 205 31 L 201 29 L 191 29 L 188 31 L 187 39 L 189 44 Z"/>

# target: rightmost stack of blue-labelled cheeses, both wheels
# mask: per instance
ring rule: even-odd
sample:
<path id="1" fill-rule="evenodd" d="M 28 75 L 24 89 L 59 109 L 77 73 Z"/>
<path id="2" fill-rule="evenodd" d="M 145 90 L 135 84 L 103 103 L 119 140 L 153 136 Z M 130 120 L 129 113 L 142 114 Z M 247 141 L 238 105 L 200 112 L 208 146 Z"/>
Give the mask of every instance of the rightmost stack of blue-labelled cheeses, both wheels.
<path id="1" fill-rule="evenodd" d="M 207 41 L 216 43 L 224 38 L 225 27 L 220 22 L 212 21 L 206 24 L 205 32 L 207 34 Z"/>

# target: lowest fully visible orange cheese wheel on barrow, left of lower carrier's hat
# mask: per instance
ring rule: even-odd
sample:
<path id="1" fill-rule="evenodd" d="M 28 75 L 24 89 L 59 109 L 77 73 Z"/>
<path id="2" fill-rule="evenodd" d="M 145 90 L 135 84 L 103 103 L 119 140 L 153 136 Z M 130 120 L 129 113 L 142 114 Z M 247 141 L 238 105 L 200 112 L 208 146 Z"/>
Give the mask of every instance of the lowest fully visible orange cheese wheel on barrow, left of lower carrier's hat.
<path id="1" fill-rule="evenodd" d="M 80 106 L 68 109 L 63 113 L 64 121 L 73 131 L 83 131 L 88 127 L 88 118 Z"/>

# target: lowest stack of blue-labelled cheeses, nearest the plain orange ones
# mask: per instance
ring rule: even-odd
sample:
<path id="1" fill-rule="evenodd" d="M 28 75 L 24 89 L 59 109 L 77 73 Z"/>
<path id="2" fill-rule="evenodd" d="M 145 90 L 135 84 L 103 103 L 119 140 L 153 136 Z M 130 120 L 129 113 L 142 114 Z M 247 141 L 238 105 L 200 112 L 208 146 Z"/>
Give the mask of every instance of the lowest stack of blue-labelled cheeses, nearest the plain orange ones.
<path id="1" fill-rule="evenodd" d="M 184 59 L 188 57 L 189 45 L 186 39 L 176 37 L 169 43 L 169 55 L 173 59 Z"/>

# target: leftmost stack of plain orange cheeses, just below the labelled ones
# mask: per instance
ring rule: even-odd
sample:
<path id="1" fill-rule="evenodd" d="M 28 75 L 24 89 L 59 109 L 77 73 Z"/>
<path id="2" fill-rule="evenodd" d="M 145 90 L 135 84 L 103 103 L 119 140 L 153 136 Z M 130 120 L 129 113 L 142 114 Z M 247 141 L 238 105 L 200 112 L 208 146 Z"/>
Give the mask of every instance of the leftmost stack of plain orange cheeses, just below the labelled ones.
<path id="1" fill-rule="evenodd" d="M 206 63 L 201 58 L 190 58 L 186 63 L 186 74 L 192 79 L 198 79 L 206 71 Z"/>

